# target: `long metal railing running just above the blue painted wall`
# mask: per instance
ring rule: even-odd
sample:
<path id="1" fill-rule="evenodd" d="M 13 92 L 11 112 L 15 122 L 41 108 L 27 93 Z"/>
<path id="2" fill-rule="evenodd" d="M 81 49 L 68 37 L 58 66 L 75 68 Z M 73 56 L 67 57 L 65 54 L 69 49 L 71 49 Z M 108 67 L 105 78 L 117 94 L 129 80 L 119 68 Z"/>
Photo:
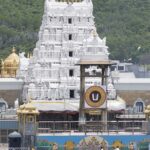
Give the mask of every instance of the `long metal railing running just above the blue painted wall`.
<path id="1" fill-rule="evenodd" d="M 129 132 L 147 133 L 147 121 L 40 121 L 38 133 L 61 133 L 61 132 Z"/>

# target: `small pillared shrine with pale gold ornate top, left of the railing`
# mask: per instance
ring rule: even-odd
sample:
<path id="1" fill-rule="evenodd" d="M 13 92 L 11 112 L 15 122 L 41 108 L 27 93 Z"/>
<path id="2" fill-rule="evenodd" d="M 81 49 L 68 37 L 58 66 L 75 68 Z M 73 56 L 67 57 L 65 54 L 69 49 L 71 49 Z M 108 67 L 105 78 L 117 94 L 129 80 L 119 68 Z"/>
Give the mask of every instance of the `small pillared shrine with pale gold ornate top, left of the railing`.
<path id="1" fill-rule="evenodd" d="M 34 147 L 36 142 L 37 132 L 37 116 L 39 111 L 29 101 L 27 104 L 23 104 L 17 110 L 19 120 L 19 132 L 23 135 L 23 146 L 30 145 Z"/>

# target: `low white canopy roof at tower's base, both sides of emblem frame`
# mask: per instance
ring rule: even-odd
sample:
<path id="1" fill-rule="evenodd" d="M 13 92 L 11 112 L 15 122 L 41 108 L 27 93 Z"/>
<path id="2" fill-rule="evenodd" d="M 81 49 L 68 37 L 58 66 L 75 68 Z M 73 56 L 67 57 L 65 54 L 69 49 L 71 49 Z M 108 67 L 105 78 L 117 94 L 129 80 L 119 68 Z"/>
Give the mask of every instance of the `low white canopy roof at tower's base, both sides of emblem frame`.
<path id="1" fill-rule="evenodd" d="M 34 100 L 32 105 L 40 112 L 79 112 L 79 101 L 47 101 L 47 100 Z M 117 97 L 115 100 L 107 100 L 108 111 L 121 111 L 126 108 L 125 101 Z"/>

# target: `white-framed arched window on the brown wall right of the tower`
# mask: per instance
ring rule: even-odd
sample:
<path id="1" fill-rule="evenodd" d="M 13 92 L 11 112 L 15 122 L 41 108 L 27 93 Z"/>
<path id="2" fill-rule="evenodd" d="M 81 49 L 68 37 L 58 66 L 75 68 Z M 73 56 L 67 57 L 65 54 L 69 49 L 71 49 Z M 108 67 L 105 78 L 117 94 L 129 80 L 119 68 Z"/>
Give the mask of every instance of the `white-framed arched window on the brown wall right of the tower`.
<path id="1" fill-rule="evenodd" d="M 145 103 L 141 98 L 137 98 L 137 100 L 134 102 L 134 108 L 136 109 L 137 113 L 143 113 L 144 112 Z"/>

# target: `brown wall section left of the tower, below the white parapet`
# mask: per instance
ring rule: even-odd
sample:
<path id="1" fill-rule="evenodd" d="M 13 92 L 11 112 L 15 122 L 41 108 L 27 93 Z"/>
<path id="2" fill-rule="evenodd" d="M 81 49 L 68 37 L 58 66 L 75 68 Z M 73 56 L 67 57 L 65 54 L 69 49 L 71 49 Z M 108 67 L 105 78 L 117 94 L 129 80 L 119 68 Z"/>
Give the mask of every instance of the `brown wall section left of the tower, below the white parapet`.
<path id="1" fill-rule="evenodd" d="M 21 90 L 0 90 L 0 97 L 8 103 L 10 108 L 14 107 L 14 102 L 17 98 L 20 100 L 21 93 Z"/>

